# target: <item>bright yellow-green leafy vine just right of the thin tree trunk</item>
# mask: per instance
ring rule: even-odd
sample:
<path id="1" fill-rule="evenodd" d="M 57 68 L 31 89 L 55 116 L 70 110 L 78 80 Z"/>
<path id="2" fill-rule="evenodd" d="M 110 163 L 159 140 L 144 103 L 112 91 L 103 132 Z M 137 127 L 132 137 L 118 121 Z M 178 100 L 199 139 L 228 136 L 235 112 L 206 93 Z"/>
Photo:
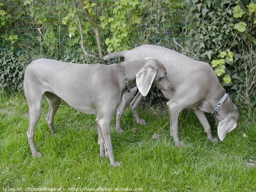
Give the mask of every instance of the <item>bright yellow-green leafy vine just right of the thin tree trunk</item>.
<path id="1" fill-rule="evenodd" d="M 99 17 L 101 28 L 108 29 L 112 35 L 105 40 L 108 52 L 131 48 L 131 32 L 135 24 L 140 24 L 140 15 L 144 7 L 145 3 L 139 0 L 116 1 L 113 7 L 108 9 L 108 17 Z"/>

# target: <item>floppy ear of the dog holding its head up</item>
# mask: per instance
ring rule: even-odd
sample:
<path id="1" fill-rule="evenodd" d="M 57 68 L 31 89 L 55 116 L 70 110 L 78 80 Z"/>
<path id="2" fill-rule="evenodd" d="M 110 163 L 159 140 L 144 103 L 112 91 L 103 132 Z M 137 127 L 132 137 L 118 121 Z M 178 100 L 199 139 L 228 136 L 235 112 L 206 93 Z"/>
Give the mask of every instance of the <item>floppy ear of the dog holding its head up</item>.
<path id="1" fill-rule="evenodd" d="M 143 67 L 136 75 L 136 84 L 140 93 L 145 97 L 150 90 L 157 71 L 153 67 Z"/>

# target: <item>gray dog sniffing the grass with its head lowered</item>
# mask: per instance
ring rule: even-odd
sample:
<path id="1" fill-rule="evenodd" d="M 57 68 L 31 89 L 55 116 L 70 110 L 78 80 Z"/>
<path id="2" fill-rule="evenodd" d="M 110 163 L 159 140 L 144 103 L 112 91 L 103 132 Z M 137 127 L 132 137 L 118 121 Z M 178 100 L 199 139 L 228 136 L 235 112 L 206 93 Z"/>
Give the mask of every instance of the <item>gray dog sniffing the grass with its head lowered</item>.
<path id="1" fill-rule="evenodd" d="M 163 95 L 169 99 L 167 106 L 171 124 L 171 135 L 174 138 L 175 145 L 180 146 L 183 144 L 178 137 L 177 122 L 179 113 L 185 108 L 194 110 L 204 126 L 208 139 L 212 142 L 217 142 L 218 139 L 212 137 L 211 127 L 204 112 L 212 113 L 212 116 L 214 116 L 218 124 L 218 136 L 221 141 L 224 140 L 228 132 L 236 128 L 236 122 L 239 119 L 238 109 L 225 93 L 224 88 L 219 83 L 209 64 L 195 61 L 178 52 L 155 45 L 142 45 L 132 50 L 114 52 L 106 55 L 104 59 L 108 60 L 116 57 L 125 57 L 125 62 L 154 57 L 164 64 L 167 76 L 174 86 L 173 90 L 163 92 Z M 133 99 L 136 91 L 137 88 L 134 88 L 131 91 L 133 94 L 125 94 L 117 110 L 116 128 L 120 132 L 123 132 L 121 128 L 122 113 L 131 99 Z M 130 105 L 137 123 L 145 125 L 145 120 L 141 119 L 138 115 L 138 106 L 142 98 L 143 96 L 138 93 Z"/>

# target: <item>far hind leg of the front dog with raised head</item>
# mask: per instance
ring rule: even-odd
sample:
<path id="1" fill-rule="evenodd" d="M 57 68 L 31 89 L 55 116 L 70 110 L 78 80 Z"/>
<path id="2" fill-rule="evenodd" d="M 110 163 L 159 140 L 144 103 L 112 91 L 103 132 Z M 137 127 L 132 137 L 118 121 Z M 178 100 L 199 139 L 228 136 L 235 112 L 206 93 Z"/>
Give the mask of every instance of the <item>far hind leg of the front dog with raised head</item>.
<path id="1" fill-rule="evenodd" d="M 55 134 L 55 129 L 53 127 L 53 119 L 58 107 L 60 106 L 61 98 L 56 96 L 54 93 L 50 92 L 44 93 L 44 96 L 46 97 L 49 103 L 49 112 L 47 114 L 46 121 L 52 134 Z"/>

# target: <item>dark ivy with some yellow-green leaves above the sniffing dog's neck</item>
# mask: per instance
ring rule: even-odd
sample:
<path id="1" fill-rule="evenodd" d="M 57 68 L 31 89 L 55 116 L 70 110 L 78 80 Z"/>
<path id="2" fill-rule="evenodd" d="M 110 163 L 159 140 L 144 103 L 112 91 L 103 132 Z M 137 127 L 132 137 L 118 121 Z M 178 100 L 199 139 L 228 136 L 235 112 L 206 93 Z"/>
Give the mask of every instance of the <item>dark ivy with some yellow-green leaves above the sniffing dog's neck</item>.
<path id="1" fill-rule="evenodd" d="M 228 91 L 235 91 L 247 103 L 255 100 L 255 4 L 192 0 L 188 6 L 186 29 L 192 39 L 186 46 L 193 47 L 196 59 L 212 64 Z"/>

